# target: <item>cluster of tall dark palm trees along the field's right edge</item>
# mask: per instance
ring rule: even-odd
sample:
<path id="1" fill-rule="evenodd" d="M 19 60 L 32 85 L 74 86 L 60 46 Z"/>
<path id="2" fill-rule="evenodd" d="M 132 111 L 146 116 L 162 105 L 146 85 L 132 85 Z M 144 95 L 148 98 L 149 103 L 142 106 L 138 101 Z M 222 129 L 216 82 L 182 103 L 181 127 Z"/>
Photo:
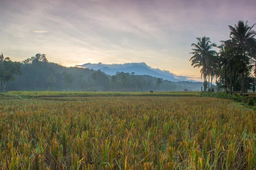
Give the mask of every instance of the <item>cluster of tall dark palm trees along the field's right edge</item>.
<path id="1" fill-rule="evenodd" d="M 255 26 L 255 24 L 253 25 Z M 204 78 L 204 91 L 209 89 L 210 82 L 216 78 L 218 90 L 233 94 L 247 90 L 255 91 L 256 74 L 256 31 L 247 22 L 239 21 L 235 26 L 228 26 L 230 39 L 221 40 L 217 46 L 209 37 L 197 37 L 197 43 L 192 43 L 193 56 L 191 65 L 201 68 L 201 78 Z M 218 52 L 213 50 L 218 48 Z M 208 82 L 207 82 L 208 79 Z M 208 84 L 208 85 L 207 85 Z"/>

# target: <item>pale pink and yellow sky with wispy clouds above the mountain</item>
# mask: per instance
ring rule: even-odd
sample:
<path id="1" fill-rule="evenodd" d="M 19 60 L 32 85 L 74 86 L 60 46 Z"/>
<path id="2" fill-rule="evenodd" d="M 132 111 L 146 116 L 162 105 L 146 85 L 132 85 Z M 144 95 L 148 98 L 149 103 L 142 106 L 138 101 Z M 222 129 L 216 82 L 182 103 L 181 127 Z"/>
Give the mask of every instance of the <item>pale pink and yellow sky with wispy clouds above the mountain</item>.
<path id="1" fill-rule="evenodd" d="M 200 80 L 191 44 L 206 35 L 220 45 L 239 20 L 256 23 L 256 0 L 0 0 L 0 53 L 65 66 L 145 62 Z"/>

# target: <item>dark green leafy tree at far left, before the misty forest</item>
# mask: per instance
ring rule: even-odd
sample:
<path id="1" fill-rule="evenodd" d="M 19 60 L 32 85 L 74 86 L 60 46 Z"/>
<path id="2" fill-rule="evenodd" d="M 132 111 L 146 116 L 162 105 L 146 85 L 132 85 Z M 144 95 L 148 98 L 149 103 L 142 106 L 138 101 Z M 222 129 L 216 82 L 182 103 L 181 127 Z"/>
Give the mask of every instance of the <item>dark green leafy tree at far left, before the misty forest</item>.
<path id="1" fill-rule="evenodd" d="M 20 62 L 12 62 L 9 57 L 0 56 L 0 83 L 3 84 L 3 92 L 6 92 L 7 82 L 15 80 L 15 75 L 21 75 Z"/>

